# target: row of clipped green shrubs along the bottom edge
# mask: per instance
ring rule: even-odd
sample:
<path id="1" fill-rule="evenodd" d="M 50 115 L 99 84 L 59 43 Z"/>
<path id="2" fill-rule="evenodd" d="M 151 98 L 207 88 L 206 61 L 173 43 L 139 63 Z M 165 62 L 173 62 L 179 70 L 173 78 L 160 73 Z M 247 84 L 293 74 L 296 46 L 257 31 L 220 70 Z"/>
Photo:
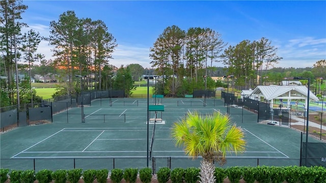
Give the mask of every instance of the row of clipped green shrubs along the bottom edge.
<path id="1" fill-rule="evenodd" d="M 143 183 L 149 183 L 152 179 L 152 169 L 142 168 L 138 171 L 137 168 L 126 169 L 113 169 L 111 171 L 110 179 L 113 183 L 119 183 L 124 178 L 128 183 L 134 183 L 137 176 Z M 164 167 L 157 171 L 157 180 L 159 183 L 166 183 L 171 180 L 173 183 L 196 183 L 199 180 L 199 168 L 175 168 L 173 170 Z M 80 178 L 85 183 L 92 183 L 95 178 L 98 183 L 106 183 L 108 178 L 108 170 L 85 170 L 72 169 L 72 170 L 40 170 L 35 173 L 34 170 L 12 170 L 0 169 L 0 183 L 4 183 L 9 177 L 11 183 L 33 183 L 38 180 L 39 183 L 48 183 L 52 180 L 55 183 L 77 183 Z M 275 182 L 280 183 L 287 181 L 288 183 L 326 183 L 326 169 L 324 167 L 230 167 L 230 168 L 215 168 L 215 182 L 223 182 L 228 178 L 230 182 L 239 182 L 243 179 L 247 183 L 260 183 Z"/>

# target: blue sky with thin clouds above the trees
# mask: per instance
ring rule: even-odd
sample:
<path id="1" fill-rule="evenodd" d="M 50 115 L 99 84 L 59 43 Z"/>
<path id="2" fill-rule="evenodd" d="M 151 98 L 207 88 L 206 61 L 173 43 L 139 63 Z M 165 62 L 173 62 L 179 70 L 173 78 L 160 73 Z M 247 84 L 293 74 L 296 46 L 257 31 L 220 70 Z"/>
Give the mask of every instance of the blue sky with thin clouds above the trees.
<path id="1" fill-rule="evenodd" d="M 73 10 L 78 18 L 102 20 L 117 40 L 110 64 L 149 68 L 149 48 L 164 29 L 209 27 L 227 46 L 262 37 L 283 57 L 275 67 L 313 67 L 326 58 L 326 1 L 23 1 L 22 21 L 49 36 L 51 20 Z M 51 58 L 42 41 L 39 52 Z M 224 67 L 222 63 L 215 66 Z"/>

